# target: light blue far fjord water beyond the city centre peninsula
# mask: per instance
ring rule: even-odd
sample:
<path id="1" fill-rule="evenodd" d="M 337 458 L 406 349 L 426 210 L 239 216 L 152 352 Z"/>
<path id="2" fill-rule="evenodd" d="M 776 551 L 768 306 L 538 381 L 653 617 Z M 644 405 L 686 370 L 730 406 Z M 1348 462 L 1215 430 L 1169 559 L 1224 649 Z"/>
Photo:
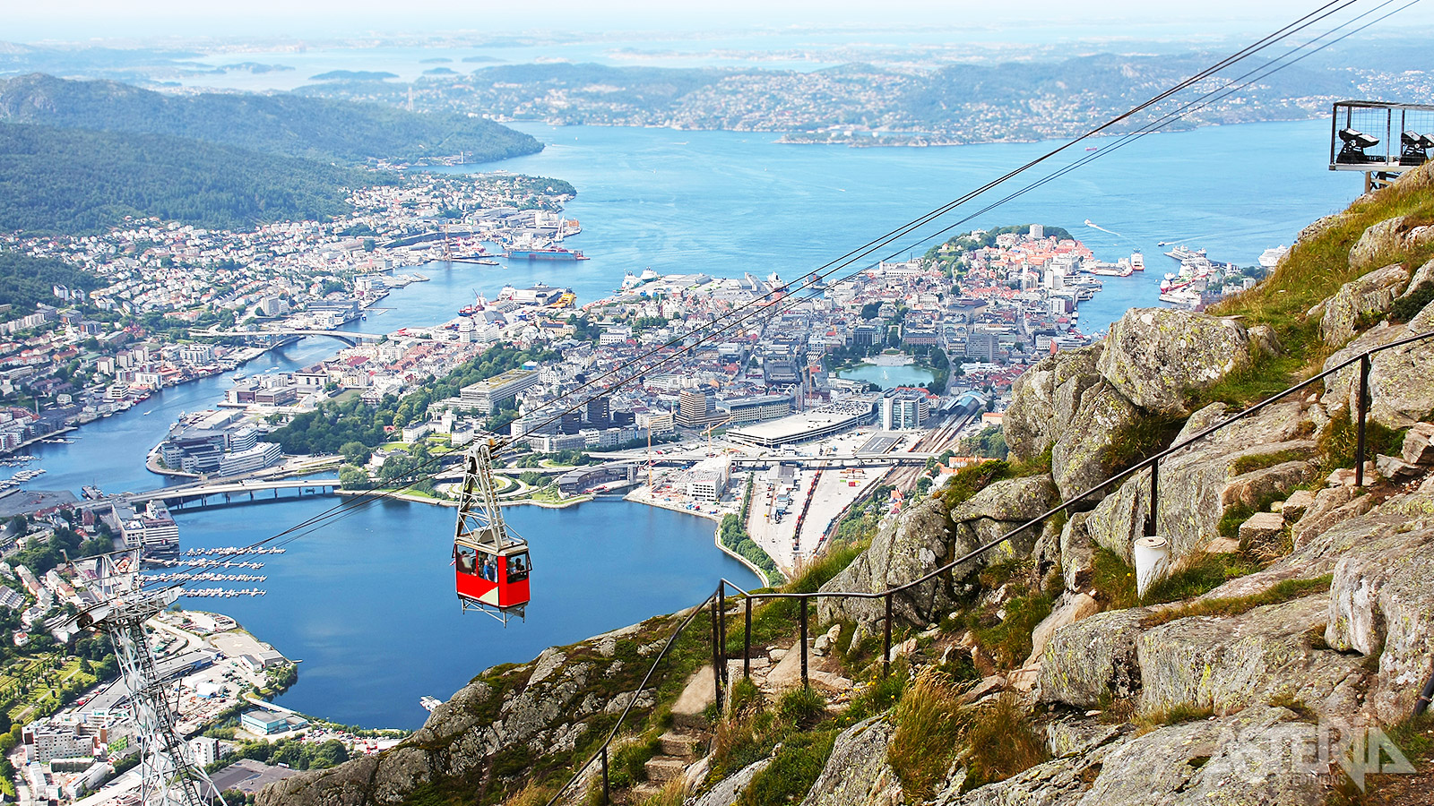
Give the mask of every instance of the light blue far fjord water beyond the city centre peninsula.
<path id="1" fill-rule="evenodd" d="M 531 156 L 445 171 L 499 168 L 572 182 L 578 196 L 566 212 L 584 231 L 566 245 L 592 260 L 459 264 L 450 272 L 432 264 L 435 271 L 422 271 L 435 281 L 410 287 L 406 294 L 413 303 L 406 307 L 446 318 L 453 316 L 455 295 L 470 288 L 492 297 L 505 283 L 535 281 L 571 287 L 585 304 L 609 295 L 625 271 L 648 267 L 661 274 L 720 277 L 751 272 L 764 278 L 776 271 L 792 281 L 1054 146 L 858 149 L 776 143 L 774 135 L 757 132 L 516 128 L 549 145 Z M 1263 250 L 1289 245 L 1311 221 L 1344 209 L 1359 194 L 1361 178 L 1325 169 L 1328 136 L 1328 123 L 1319 120 L 1150 135 L 974 215 L 1058 166 L 1098 153 L 1076 146 L 832 277 L 876 258 L 921 255 L 934 242 L 977 227 L 1057 225 L 1104 260 L 1134 250 L 1146 257 L 1143 274 L 1106 278 L 1106 290 L 1081 304 L 1081 328 L 1104 331 L 1126 308 L 1159 304 L 1162 277 L 1179 268 L 1162 254 L 1170 244 L 1203 247 L 1212 260 L 1253 265 Z M 1090 145 L 1114 142 L 1098 138 Z M 961 222 L 968 215 L 974 218 Z M 1087 219 L 1101 229 L 1086 227 Z M 938 234 L 948 227 L 949 232 Z M 1157 247 L 1162 241 L 1167 245 Z"/>

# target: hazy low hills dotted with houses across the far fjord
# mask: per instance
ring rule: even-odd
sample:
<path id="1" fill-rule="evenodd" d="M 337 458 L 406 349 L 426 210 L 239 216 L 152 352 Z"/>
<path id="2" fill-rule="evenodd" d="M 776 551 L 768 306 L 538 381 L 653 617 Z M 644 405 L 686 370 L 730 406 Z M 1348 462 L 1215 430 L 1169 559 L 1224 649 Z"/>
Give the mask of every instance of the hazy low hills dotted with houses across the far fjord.
<path id="1" fill-rule="evenodd" d="M 1364 47 L 1364 50 L 1369 50 Z M 1410 56 L 1408 50 L 1398 50 Z M 796 133 L 804 142 L 852 132 L 899 132 L 929 142 L 1034 141 L 1070 136 L 1196 75 L 1222 54 L 1091 53 L 1065 59 L 956 63 L 931 70 L 849 63 L 822 70 L 612 67 L 588 63 L 502 65 L 466 76 L 409 83 L 333 80 L 295 93 L 459 110 L 555 125 L 671 126 Z M 1390 54 L 1385 54 L 1390 56 Z M 1215 98 L 1167 128 L 1306 119 L 1336 98 L 1428 100 L 1424 73 L 1321 53 L 1250 86 Z M 1192 87 L 1139 128 L 1228 80 L 1243 82 L 1249 60 Z M 410 95 L 412 93 L 412 95 Z M 847 135 L 849 136 L 849 135 Z M 872 145 L 870 136 L 863 145 Z"/>

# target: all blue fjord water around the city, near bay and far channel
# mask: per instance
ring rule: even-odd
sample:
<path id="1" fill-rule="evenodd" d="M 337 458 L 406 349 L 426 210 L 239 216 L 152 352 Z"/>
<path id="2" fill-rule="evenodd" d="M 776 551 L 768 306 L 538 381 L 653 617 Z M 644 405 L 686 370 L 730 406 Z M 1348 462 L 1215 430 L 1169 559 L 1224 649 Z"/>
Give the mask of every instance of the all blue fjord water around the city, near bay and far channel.
<path id="1" fill-rule="evenodd" d="M 522 128 L 552 145 L 476 169 L 571 181 L 579 194 L 568 215 L 584 232 L 568 245 L 592 260 L 427 264 L 417 271 L 429 283 L 394 291 L 381 303 L 391 310 L 373 311 L 351 330 L 442 323 L 473 290 L 492 297 L 508 283 L 572 287 L 579 303 L 591 303 L 611 294 L 625 271 L 645 267 L 727 277 L 779 271 L 794 280 L 1048 148 L 847 149 L 779 145 L 761 133 Z M 1318 120 L 1150 136 L 955 231 L 1037 221 L 1068 228 L 1107 260 L 1143 250 L 1144 275 L 1107 278 L 1106 290 L 1081 305 L 1083 328 L 1104 330 L 1130 305 L 1157 304 L 1160 277 L 1174 268 L 1157 241 L 1249 265 L 1266 247 L 1289 244 L 1301 227 L 1344 208 L 1358 195 L 1359 178 L 1325 171 L 1326 138 Z M 1084 227 L 1086 219 L 1119 235 Z M 337 347 L 308 338 L 244 371 L 304 367 Z M 34 446 L 49 472 L 34 486 L 77 492 L 98 483 L 120 492 L 163 485 L 143 469 L 145 452 L 179 412 L 211 407 L 228 386 L 221 376 L 168 389 L 85 426 L 73 445 Z M 333 505 L 234 506 L 181 513 L 178 522 L 186 548 L 244 545 Z M 528 621 L 508 628 L 459 614 L 449 566 L 453 511 L 416 503 L 381 503 L 300 532 L 287 554 L 268 558 L 264 598 L 184 604 L 231 614 L 304 661 L 282 704 L 341 723 L 417 727 L 420 696 L 447 698 L 488 665 L 526 661 L 543 647 L 687 607 L 720 575 L 753 582 L 713 546 L 713 523 L 694 516 L 617 502 L 505 515 L 532 542 L 536 568 Z"/>

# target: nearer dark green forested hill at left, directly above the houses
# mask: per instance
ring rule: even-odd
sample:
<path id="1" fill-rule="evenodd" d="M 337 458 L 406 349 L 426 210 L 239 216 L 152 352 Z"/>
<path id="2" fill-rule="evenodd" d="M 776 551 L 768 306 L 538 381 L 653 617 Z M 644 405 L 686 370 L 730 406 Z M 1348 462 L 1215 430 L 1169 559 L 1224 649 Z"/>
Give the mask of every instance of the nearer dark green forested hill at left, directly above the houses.
<path id="1" fill-rule="evenodd" d="M 350 168 L 161 135 L 0 122 L 0 231 L 93 234 L 126 215 L 234 229 L 347 212 Z"/>

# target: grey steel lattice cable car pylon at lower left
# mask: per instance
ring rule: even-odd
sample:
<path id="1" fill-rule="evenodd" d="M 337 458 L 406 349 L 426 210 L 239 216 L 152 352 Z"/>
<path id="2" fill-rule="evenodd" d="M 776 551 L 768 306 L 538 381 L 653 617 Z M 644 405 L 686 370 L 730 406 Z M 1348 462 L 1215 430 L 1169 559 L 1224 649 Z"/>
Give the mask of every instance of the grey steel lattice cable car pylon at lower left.
<path id="1" fill-rule="evenodd" d="M 209 806 L 219 790 L 179 736 L 176 704 L 168 681 L 155 668 L 145 622 L 179 598 L 179 588 L 143 588 L 141 549 L 102 554 L 96 558 L 100 604 L 75 618 L 80 630 L 103 630 L 115 645 L 120 680 L 139 734 L 139 802 L 143 806 Z"/>

